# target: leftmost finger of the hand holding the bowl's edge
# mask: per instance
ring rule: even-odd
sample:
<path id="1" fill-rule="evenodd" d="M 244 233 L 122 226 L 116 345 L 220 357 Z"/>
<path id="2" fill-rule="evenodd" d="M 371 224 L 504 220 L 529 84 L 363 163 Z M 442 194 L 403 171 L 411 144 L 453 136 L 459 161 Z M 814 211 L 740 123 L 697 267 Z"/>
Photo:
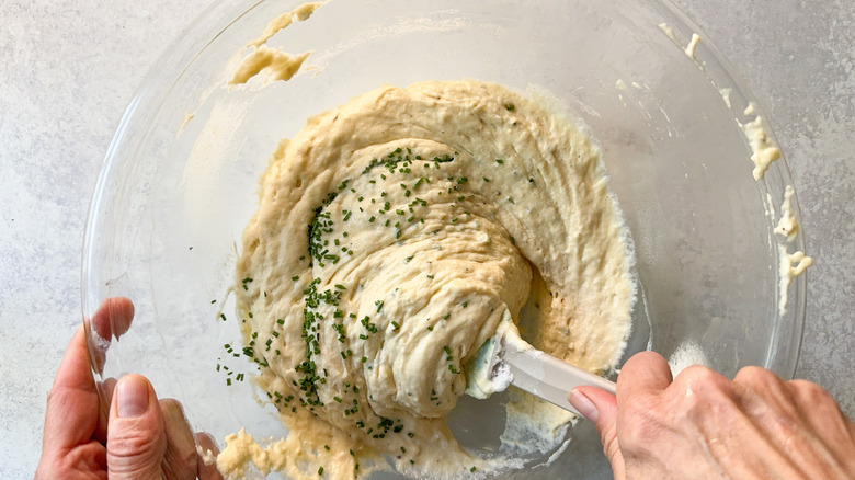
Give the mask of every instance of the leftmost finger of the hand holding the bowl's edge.
<path id="1" fill-rule="evenodd" d="M 89 442 L 98 426 L 96 412 L 98 391 L 81 325 L 71 339 L 47 395 L 43 456 L 64 455 Z"/>

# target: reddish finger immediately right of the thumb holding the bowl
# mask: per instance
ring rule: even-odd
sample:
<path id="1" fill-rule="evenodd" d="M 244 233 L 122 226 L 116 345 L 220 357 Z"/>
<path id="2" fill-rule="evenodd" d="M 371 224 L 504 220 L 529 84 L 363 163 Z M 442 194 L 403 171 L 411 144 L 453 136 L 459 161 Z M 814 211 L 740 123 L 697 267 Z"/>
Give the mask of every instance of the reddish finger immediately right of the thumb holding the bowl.
<path id="1" fill-rule="evenodd" d="M 163 456 L 163 476 L 167 480 L 196 478 L 196 438 L 190 430 L 181 403 L 174 399 L 160 400 L 160 411 L 167 433 L 167 453 Z"/>

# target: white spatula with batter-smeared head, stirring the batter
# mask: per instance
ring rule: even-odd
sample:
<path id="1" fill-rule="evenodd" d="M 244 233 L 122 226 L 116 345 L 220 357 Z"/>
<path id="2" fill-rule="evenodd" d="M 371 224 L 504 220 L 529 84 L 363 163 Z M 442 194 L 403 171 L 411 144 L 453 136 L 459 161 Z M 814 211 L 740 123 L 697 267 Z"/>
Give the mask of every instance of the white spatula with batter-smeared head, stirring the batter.
<path id="1" fill-rule="evenodd" d="M 555 405 L 579 413 L 567 401 L 575 387 L 593 386 L 614 395 L 615 384 L 588 370 L 562 362 L 525 342 L 506 341 L 501 335 L 483 347 L 480 362 L 486 367 L 490 390 L 501 391 L 514 385 Z"/>

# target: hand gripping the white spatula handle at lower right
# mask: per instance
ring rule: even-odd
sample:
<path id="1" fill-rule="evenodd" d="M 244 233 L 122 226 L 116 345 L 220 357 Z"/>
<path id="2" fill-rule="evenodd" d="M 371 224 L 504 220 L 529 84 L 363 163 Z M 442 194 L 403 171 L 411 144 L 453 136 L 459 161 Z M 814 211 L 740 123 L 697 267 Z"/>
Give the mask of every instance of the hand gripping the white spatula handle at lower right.
<path id="1" fill-rule="evenodd" d="M 760 367 L 733 380 L 702 366 L 671 378 L 659 354 L 632 356 L 617 397 L 594 387 L 569 396 L 596 424 L 616 479 L 855 478 L 855 425 L 806 380 Z"/>

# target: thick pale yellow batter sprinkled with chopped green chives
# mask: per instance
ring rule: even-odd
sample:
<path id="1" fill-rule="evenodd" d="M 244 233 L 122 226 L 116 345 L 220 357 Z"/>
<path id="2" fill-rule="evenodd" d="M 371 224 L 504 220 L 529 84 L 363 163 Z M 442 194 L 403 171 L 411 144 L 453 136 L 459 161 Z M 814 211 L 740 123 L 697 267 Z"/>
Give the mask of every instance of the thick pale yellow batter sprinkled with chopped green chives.
<path id="1" fill-rule="evenodd" d="M 630 267 L 598 148 L 538 103 L 429 81 L 312 117 L 264 172 L 237 266 L 244 353 L 289 434 L 242 455 L 241 432 L 219 468 L 335 479 L 388 464 L 436 478 L 518 468 L 529 437 L 573 416 L 517 392 L 502 448 L 465 450 L 446 416 L 467 363 L 528 304 L 521 330 L 535 347 L 611 370 L 630 330 Z"/>

